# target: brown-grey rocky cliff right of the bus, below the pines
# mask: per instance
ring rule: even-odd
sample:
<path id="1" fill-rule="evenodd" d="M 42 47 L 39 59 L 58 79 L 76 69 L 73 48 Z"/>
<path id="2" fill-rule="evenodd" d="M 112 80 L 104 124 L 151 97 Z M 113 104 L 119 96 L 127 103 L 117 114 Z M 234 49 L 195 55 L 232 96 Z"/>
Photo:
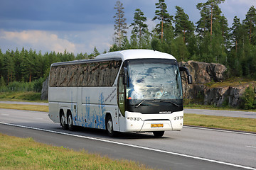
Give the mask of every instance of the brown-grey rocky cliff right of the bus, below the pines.
<path id="1" fill-rule="evenodd" d="M 198 98 L 205 105 L 215 106 L 239 106 L 241 96 L 250 84 L 235 83 L 233 86 L 220 84 L 218 87 L 211 87 L 213 82 L 225 80 L 227 68 L 223 64 L 204 62 L 181 62 L 180 66 L 186 66 L 193 77 L 193 84 L 188 85 L 186 74 L 182 73 L 183 98 L 196 100 Z M 255 86 L 255 84 L 252 84 Z"/>

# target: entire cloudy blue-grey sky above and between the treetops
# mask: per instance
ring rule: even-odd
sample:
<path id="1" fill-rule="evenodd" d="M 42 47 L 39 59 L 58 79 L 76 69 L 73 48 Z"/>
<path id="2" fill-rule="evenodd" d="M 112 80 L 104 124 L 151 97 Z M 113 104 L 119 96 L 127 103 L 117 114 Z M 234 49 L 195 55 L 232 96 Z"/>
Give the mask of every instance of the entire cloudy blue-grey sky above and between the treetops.
<path id="1" fill-rule="evenodd" d="M 0 49 L 36 50 L 36 52 L 82 52 L 90 54 L 109 50 L 114 35 L 114 4 L 117 0 L 0 0 Z M 167 11 L 174 16 L 175 6 L 181 6 L 193 23 L 200 19 L 196 4 L 207 0 L 166 0 Z M 121 0 L 129 26 L 135 9 L 144 12 L 152 30 L 158 21 L 151 21 L 158 0 Z M 225 0 L 222 14 L 232 26 L 233 18 L 240 21 L 256 0 Z M 128 37 L 130 34 L 129 28 Z"/>

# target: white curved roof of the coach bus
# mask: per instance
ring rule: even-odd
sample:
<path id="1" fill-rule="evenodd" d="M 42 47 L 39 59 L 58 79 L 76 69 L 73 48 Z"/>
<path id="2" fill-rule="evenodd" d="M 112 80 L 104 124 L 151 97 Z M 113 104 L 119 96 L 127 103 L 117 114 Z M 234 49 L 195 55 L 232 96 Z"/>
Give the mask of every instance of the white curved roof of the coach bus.
<path id="1" fill-rule="evenodd" d="M 107 52 L 102 55 L 98 55 L 94 59 L 90 60 L 75 60 L 70 62 L 57 62 L 53 63 L 51 66 L 58 65 L 68 65 L 68 64 L 82 64 L 88 62 L 104 62 L 110 60 L 129 60 L 129 59 L 143 59 L 143 58 L 159 58 L 159 59 L 172 59 L 176 60 L 176 58 L 172 55 L 169 55 L 164 52 L 159 52 L 155 50 L 122 50 L 116 52 Z"/>

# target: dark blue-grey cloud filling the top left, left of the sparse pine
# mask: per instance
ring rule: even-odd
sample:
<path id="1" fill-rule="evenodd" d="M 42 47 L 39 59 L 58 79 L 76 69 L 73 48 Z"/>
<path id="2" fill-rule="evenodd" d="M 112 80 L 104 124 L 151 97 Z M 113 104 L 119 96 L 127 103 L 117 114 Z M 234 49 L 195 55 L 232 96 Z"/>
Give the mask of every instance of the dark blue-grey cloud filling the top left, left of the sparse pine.
<path id="1" fill-rule="evenodd" d="M 100 1 L 100 3 L 82 0 L 1 1 L 1 28 L 67 30 L 73 28 L 72 24 L 78 24 L 80 27 L 85 23 L 105 24 L 113 22 L 113 6 L 110 1 Z"/>

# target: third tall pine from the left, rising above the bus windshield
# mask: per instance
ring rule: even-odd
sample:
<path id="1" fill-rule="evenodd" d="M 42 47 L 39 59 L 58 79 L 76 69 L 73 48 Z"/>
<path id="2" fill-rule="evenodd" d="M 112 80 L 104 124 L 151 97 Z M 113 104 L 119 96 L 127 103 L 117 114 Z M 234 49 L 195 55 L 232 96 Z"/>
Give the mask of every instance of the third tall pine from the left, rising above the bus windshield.
<path id="1" fill-rule="evenodd" d="M 166 10 L 167 6 L 164 0 L 159 0 L 159 2 L 156 3 L 156 8 L 157 8 L 155 11 L 156 16 L 154 16 L 152 21 L 155 21 L 156 19 L 160 21 L 160 23 L 156 25 L 156 33 L 159 33 L 161 42 L 163 42 L 164 28 L 168 28 L 172 26 L 171 21 L 173 19 L 173 16 L 170 16 L 169 13 L 167 13 L 167 10 Z"/>

